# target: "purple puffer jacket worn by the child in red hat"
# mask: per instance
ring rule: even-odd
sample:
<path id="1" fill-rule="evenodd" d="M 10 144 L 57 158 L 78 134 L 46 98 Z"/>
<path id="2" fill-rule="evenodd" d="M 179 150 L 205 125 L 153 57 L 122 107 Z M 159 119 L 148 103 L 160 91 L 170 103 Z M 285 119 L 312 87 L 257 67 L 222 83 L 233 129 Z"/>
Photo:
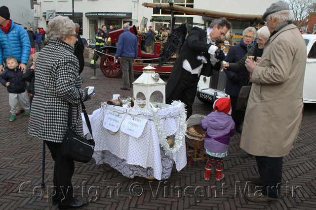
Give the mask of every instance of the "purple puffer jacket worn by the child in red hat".
<path id="1" fill-rule="evenodd" d="M 206 131 L 204 147 L 215 153 L 224 153 L 228 150 L 229 140 L 235 135 L 235 122 L 230 115 L 224 112 L 211 112 L 200 123 Z"/>

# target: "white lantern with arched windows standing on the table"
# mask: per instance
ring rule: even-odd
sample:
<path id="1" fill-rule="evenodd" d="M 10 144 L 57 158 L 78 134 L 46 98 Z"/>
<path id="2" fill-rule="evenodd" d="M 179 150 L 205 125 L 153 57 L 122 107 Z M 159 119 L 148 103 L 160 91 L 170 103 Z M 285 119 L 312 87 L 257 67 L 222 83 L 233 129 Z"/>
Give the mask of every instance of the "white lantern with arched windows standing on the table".
<path id="1" fill-rule="evenodd" d="M 146 66 L 144 72 L 133 83 L 134 88 L 134 106 L 146 110 L 150 110 L 151 106 L 165 103 L 165 86 L 166 83 L 159 78 L 159 74 L 155 72 L 152 65 Z"/>

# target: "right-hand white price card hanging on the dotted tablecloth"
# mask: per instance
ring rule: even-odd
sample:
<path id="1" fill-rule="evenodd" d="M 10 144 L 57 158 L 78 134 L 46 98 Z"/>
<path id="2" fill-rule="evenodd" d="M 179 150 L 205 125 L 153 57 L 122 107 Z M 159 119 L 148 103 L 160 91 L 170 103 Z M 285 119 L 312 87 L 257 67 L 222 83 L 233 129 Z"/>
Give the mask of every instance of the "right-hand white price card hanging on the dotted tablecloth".
<path id="1" fill-rule="evenodd" d="M 137 118 L 131 115 L 128 115 L 120 126 L 120 130 L 130 136 L 139 138 L 145 128 L 146 122 L 148 119 Z"/>

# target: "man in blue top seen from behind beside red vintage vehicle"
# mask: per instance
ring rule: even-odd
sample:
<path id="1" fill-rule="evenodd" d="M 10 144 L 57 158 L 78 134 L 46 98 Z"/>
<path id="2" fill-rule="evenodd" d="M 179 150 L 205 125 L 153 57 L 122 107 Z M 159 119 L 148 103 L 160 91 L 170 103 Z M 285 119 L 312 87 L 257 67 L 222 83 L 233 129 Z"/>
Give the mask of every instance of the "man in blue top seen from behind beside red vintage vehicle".
<path id="1" fill-rule="evenodd" d="M 118 36 L 118 49 L 114 61 L 120 57 L 120 65 L 123 72 L 123 84 L 121 90 L 130 90 L 134 81 L 133 63 L 138 55 L 138 43 L 136 36 L 130 32 L 129 25 L 123 25 L 124 32 Z"/>

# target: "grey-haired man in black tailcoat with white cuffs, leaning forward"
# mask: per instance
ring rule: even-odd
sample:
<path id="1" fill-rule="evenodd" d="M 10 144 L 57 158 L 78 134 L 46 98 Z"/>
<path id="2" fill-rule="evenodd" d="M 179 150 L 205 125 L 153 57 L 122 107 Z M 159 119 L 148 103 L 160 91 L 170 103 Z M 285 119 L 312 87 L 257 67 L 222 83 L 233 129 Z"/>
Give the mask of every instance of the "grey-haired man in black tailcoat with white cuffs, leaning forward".
<path id="1" fill-rule="evenodd" d="M 166 85 L 166 103 L 180 100 L 186 104 L 187 119 L 192 115 L 192 106 L 200 75 L 211 76 L 221 68 L 225 55 L 216 41 L 223 38 L 231 24 L 226 18 L 212 21 L 207 29 L 193 27 L 181 47 Z"/>

